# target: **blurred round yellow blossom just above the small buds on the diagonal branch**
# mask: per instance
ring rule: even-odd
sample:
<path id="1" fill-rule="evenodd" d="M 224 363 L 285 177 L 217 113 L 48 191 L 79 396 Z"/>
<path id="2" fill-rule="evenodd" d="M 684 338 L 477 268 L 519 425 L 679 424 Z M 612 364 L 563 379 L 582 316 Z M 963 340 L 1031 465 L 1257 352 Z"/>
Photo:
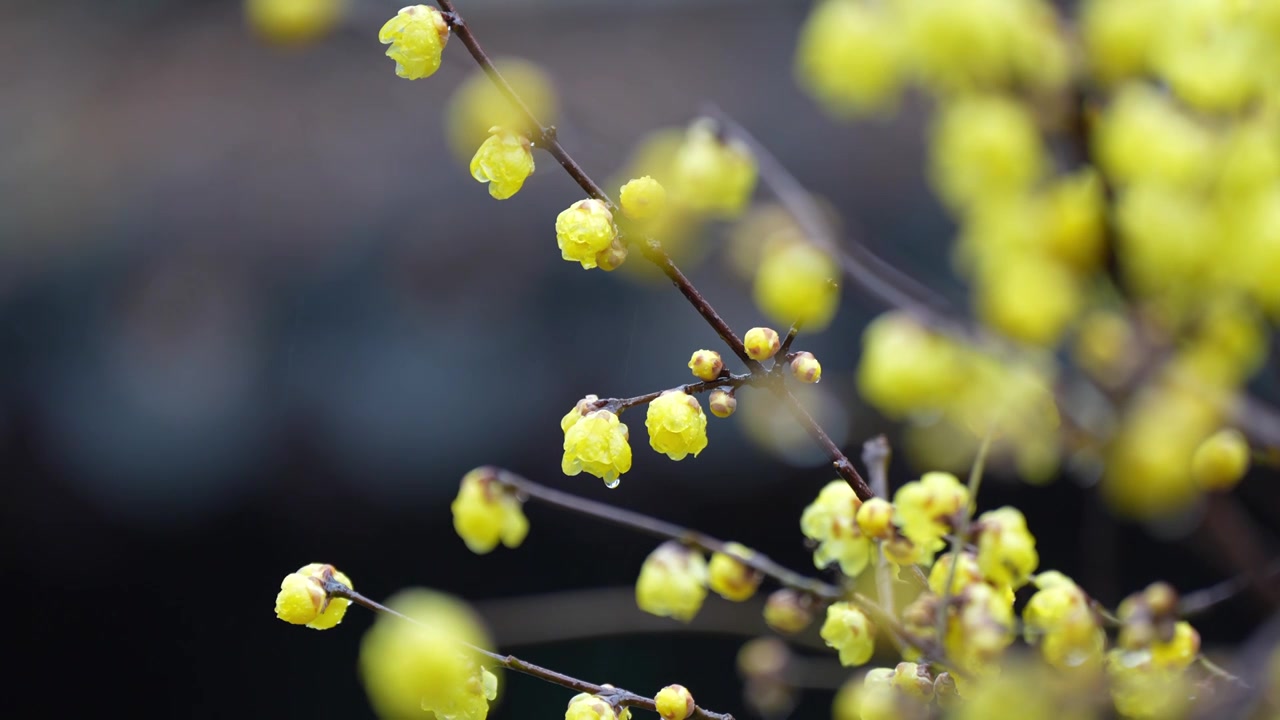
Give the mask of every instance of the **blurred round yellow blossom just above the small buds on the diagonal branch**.
<path id="1" fill-rule="evenodd" d="M 840 305 L 840 268 L 809 242 L 771 243 L 755 273 L 755 304 L 776 323 L 804 323 L 806 331 L 831 324 Z"/>

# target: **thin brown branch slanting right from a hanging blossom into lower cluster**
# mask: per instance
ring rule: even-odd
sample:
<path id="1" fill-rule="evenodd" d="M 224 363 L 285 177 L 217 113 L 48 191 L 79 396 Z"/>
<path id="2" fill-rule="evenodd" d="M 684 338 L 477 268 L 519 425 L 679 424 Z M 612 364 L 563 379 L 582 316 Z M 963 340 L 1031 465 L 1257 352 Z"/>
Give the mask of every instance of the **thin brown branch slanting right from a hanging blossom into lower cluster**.
<path id="1" fill-rule="evenodd" d="M 722 552 L 724 555 L 730 555 L 736 557 L 740 562 L 742 562 L 742 565 L 773 578 L 785 587 L 813 594 L 824 601 L 840 600 L 845 594 L 836 585 L 801 575 L 800 573 L 778 565 L 764 555 L 754 553 L 750 556 L 742 556 L 732 552 L 726 548 L 726 543 L 723 541 L 698 530 L 684 528 L 681 525 L 676 525 L 675 523 L 667 523 L 666 520 L 659 520 L 657 518 L 650 518 L 649 515 L 644 515 L 641 512 L 614 507 L 604 502 L 596 502 L 594 500 L 552 489 L 499 468 L 488 468 L 486 470 L 492 473 L 494 482 L 506 486 L 527 498 L 538 500 L 540 502 L 545 502 L 547 505 L 552 505 L 562 510 L 570 510 L 580 515 L 598 518 L 600 520 L 613 523 L 614 525 L 630 528 L 657 538 L 680 541 L 686 546 L 701 550 L 703 552 Z"/>

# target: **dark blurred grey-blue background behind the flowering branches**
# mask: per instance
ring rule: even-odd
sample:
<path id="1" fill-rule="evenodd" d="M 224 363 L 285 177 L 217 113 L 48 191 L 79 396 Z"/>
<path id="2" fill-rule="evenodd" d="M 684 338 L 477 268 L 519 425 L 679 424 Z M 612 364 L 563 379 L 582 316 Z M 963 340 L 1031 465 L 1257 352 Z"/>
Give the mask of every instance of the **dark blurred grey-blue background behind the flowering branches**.
<path id="1" fill-rule="evenodd" d="M 847 237 L 963 309 L 920 104 L 892 122 L 822 115 L 792 81 L 808 5 L 461 9 L 493 54 L 553 78 L 561 138 L 599 178 L 713 102 L 822 193 Z M 504 647 L 566 673 L 649 693 L 681 682 L 751 716 L 733 659 L 765 632 L 756 610 L 712 597 L 690 628 L 643 616 L 628 585 L 654 542 L 536 503 L 518 551 L 476 557 L 453 534 L 458 479 L 495 464 L 806 569 L 799 512 L 832 473 L 815 448 L 751 442 L 740 418 L 713 419 L 708 450 L 675 464 L 648 451 L 639 415 L 625 418 L 636 464 L 618 489 L 559 473 L 558 420 L 579 397 L 685 382 L 690 351 L 717 338 L 668 284 L 559 259 L 553 220 L 581 193 L 548 156 L 502 204 L 468 177 L 443 109 L 475 67 L 451 44 L 430 81 L 397 78 L 376 32 L 398 6 L 352 0 L 330 37 L 279 47 L 229 0 L 0 5 L 10 716 L 371 717 L 356 674 L 369 614 L 326 633 L 273 616 L 280 578 L 311 561 L 372 597 L 456 593 Z M 746 328 L 762 319 L 728 269 L 728 234 L 712 227 L 687 269 Z M 847 288 L 832 328 L 797 343 L 824 365 L 828 429 L 851 454 L 893 437 L 852 383 L 882 310 Z M 1261 377 L 1274 389 L 1275 372 Z M 900 461 L 892 477 L 918 471 Z M 1253 527 L 1280 518 L 1270 480 L 1242 491 Z M 1202 533 L 1203 509 L 1151 528 L 1110 518 L 1069 477 L 983 491 L 983 505 L 1009 501 L 1042 566 L 1107 603 L 1160 577 L 1196 588 L 1236 571 Z M 1201 628 L 1231 643 L 1263 616 L 1242 596 Z M 824 716 L 822 687 L 842 676 L 824 662 L 795 717 Z M 494 717 L 562 712 L 566 692 L 508 680 Z"/>

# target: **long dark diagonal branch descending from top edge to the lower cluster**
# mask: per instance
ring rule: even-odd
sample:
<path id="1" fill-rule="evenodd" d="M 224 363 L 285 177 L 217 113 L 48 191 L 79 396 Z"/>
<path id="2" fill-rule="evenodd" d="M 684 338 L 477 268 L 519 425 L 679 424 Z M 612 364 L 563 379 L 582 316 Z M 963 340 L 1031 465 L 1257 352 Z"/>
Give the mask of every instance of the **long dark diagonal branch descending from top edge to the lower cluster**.
<path id="1" fill-rule="evenodd" d="M 561 167 L 564 168 L 564 172 L 567 172 L 579 187 L 581 187 L 589 196 L 604 202 L 611 211 L 616 211 L 617 205 L 614 205 L 613 200 L 609 199 L 608 193 L 605 193 L 604 190 L 602 190 L 600 186 L 586 174 L 586 170 L 584 170 L 582 167 L 573 160 L 568 151 L 564 150 L 564 146 L 561 145 L 559 140 L 556 137 L 556 128 L 544 126 L 538 117 L 534 115 L 532 110 L 529 109 L 529 105 L 526 105 L 520 97 L 520 94 L 517 94 L 516 90 L 511 87 L 511 83 L 502 77 L 502 73 L 498 72 L 493 60 L 489 59 L 489 55 L 480 46 L 475 33 L 471 32 L 471 27 L 462 19 L 462 15 L 458 14 L 453 1 L 440 0 L 440 9 L 444 10 L 444 19 L 448 22 L 449 28 L 467 47 L 467 51 L 471 53 L 471 56 L 480 65 L 484 73 L 490 81 L 493 81 L 507 100 L 511 101 L 512 106 L 515 106 L 520 114 L 524 115 L 530 132 L 535 136 L 534 143 L 550 152 Z M 698 314 L 707 320 L 707 324 L 716 331 L 716 334 L 724 341 L 724 345 L 727 345 L 733 355 L 736 355 L 739 360 L 746 365 L 751 374 L 760 377 L 767 375 L 764 368 L 746 354 L 746 347 L 742 345 L 742 340 L 737 337 L 733 329 L 728 327 L 728 323 L 719 316 L 719 313 L 712 307 L 710 302 L 707 301 L 703 293 L 699 292 L 685 273 L 680 270 L 676 263 L 671 259 L 671 255 L 663 250 L 662 243 L 653 238 L 644 238 L 644 241 L 639 245 L 645 259 L 657 265 L 658 269 L 667 275 L 676 288 L 680 290 L 681 295 L 689 300 L 689 304 L 694 306 L 694 310 L 696 310 Z M 858 493 L 860 498 L 867 500 L 872 497 L 870 488 L 867 486 L 867 482 L 861 478 L 861 475 L 858 474 L 858 469 L 854 468 L 854 464 L 847 456 L 845 456 L 844 451 L 840 450 L 840 446 L 832 442 L 826 430 L 823 430 L 822 427 L 818 425 L 818 423 L 800 405 L 800 401 L 796 400 L 796 397 L 791 395 L 791 392 L 781 383 L 773 384 L 772 389 L 773 393 L 787 405 L 787 409 L 805 428 L 805 430 L 808 430 L 809 434 L 818 441 L 818 445 L 820 445 L 823 451 L 826 451 L 827 457 L 831 459 L 831 464 L 836 469 L 836 473 L 838 473 L 840 477 L 854 488 L 854 492 Z"/>

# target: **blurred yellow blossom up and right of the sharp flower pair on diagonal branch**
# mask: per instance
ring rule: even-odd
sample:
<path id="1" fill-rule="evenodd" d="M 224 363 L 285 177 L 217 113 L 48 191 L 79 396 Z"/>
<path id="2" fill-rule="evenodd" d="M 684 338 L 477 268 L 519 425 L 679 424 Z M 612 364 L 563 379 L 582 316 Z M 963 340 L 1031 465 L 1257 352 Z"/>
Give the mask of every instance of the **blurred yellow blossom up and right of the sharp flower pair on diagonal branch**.
<path id="1" fill-rule="evenodd" d="M 746 208 L 755 179 L 750 151 L 739 142 L 722 141 L 710 122 L 699 120 L 676 150 L 671 191 L 691 210 L 733 217 Z"/>

